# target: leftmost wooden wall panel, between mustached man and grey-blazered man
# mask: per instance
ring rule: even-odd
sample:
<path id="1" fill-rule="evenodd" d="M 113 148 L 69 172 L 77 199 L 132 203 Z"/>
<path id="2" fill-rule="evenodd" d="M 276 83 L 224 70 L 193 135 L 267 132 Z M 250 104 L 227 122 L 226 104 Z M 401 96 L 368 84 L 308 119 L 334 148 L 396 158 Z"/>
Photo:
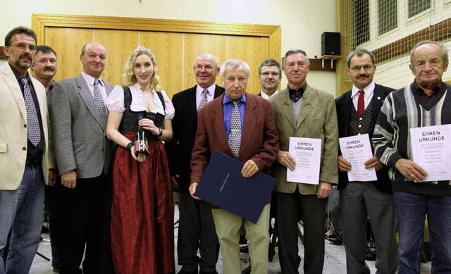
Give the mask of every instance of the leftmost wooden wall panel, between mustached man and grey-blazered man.
<path id="1" fill-rule="evenodd" d="M 47 41 L 40 39 L 42 44 L 51 46 L 58 55 L 58 70 L 55 80 L 75 77 L 82 72 L 80 54 L 82 46 L 91 42 L 93 30 L 67 27 L 48 27 Z"/>

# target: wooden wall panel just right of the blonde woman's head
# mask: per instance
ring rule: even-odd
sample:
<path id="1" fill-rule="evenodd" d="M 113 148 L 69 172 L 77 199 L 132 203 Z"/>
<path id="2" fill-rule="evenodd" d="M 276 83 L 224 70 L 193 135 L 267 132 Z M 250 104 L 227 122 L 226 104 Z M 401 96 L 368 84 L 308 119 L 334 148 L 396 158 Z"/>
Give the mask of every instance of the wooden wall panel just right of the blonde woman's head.
<path id="1" fill-rule="evenodd" d="M 155 56 L 160 85 L 169 98 L 183 87 L 183 33 L 141 32 L 140 43 Z"/>

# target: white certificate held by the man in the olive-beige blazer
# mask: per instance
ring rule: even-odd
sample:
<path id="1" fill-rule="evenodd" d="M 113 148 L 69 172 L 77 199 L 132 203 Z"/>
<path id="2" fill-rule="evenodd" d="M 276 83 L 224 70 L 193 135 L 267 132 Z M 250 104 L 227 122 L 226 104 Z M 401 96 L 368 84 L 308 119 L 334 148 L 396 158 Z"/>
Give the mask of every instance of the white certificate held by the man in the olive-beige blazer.
<path id="1" fill-rule="evenodd" d="M 287 168 L 288 182 L 319 184 L 321 168 L 321 139 L 290 137 L 289 151 L 295 158 L 295 170 Z"/>

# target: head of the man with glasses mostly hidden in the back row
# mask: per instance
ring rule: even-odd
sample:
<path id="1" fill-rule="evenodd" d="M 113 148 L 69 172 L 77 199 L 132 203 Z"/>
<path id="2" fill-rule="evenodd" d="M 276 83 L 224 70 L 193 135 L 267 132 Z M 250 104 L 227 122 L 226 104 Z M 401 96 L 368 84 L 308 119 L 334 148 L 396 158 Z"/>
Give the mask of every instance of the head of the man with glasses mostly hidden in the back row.
<path id="1" fill-rule="evenodd" d="M 264 99 L 274 94 L 278 94 L 278 86 L 282 80 L 282 68 L 280 63 L 273 58 L 268 58 L 261 63 L 259 68 L 259 83 L 261 91 L 259 93 Z"/>

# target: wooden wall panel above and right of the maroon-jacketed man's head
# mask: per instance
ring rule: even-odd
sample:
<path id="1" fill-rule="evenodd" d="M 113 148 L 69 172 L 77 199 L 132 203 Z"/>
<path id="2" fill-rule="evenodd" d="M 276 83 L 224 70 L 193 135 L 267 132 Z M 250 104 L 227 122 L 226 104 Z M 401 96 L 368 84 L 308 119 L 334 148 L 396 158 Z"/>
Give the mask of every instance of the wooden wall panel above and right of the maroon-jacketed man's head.
<path id="1" fill-rule="evenodd" d="M 242 37 L 242 36 L 228 36 L 228 50 L 227 57 L 233 59 L 240 59 L 249 64 L 249 82 L 247 83 L 247 92 L 257 94 L 260 92 L 261 86 L 258 81 L 259 66 L 268 55 L 262 52 L 262 46 L 268 44 L 268 39 L 261 39 L 260 37 Z"/>

